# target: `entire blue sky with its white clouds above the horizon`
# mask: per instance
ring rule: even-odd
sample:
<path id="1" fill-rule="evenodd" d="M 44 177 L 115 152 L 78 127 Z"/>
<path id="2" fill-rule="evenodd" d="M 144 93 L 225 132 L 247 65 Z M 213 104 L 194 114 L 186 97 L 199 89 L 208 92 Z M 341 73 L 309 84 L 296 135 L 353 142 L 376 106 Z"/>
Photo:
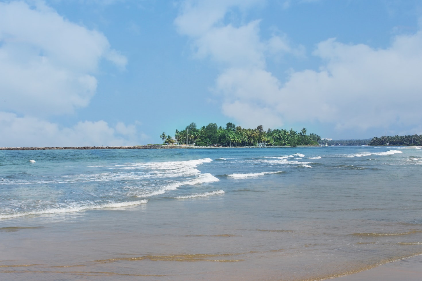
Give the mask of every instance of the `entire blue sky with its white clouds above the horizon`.
<path id="1" fill-rule="evenodd" d="M 422 134 L 421 107 L 419 0 L 0 0 L 0 147 Z"/>

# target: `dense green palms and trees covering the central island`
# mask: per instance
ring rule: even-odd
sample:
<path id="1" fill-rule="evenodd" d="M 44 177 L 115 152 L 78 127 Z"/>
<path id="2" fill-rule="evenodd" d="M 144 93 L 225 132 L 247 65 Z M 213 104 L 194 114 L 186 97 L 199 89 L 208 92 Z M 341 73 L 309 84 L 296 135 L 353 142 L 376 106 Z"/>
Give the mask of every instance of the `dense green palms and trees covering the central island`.
<path id="1" fill-rule="evenodd" d="M 197 128 L 195 123 L 190 123 L 182 131 L 176 129 L 174 139 L 164 132 L 160 138 L 169 145 L 189 144 L 195 146 L 249 146 L 249 145 L 276 145 L 292 146 L 297 145 L 318 145 L 321 140 L 317 134 L 306 134 L 306 128 L 299 132 L 290 129 L 268 129 L 264 131 L 262 125 L 256 129 L 246 129 L 227 123 L 226 127 L 217 126 L 216 123 L 209 123 L 207 126 Z"/>

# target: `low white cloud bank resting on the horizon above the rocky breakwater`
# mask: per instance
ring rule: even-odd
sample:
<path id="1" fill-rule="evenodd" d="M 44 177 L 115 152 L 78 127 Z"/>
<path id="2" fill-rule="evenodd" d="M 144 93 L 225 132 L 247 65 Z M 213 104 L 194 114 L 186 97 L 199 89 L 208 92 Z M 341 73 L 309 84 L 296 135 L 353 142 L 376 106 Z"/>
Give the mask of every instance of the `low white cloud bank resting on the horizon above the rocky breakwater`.
<path id="1" fill-rule="evenodd" d="M 110 126 L 99 120 L 62 128 L 57 123 L 9 112 L 0 112 L 0 135 L 0 147 L 125 146 L 139 145 L 148 138 L 138 133 L 135 125 Z"/>

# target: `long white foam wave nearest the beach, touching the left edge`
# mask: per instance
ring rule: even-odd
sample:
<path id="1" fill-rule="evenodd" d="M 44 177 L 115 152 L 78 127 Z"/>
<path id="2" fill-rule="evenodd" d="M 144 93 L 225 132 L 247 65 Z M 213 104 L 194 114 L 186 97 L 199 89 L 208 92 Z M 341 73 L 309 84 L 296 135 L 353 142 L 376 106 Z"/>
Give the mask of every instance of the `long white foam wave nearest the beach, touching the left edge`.
<path id="1" fill-rule="evenodd" d="M 141 205 L 147 202 L 148 200 L 143 199 L 139 201 L 126 201 L 126 202 L 103 203 L 103 204 L 96 204 L 96 205 L 93 204 L 93 205 L 87 205 L 87 206 L 52 208 L 52 209 L 45 209 L 45 210 L 40 210 L 40 211 L 27 211 L 27 212 L 16 213 L 16 214 L 2 214 L 0 215 L 0 219 L 24 217 L 24 216 L 37 215 L 37 214 L 62 214 L 62 213 L 72 213 L 72 212 L 93 210 L 93 209 L 121 208 L 121 207 L 133 206 L 133 205 Z"/>

